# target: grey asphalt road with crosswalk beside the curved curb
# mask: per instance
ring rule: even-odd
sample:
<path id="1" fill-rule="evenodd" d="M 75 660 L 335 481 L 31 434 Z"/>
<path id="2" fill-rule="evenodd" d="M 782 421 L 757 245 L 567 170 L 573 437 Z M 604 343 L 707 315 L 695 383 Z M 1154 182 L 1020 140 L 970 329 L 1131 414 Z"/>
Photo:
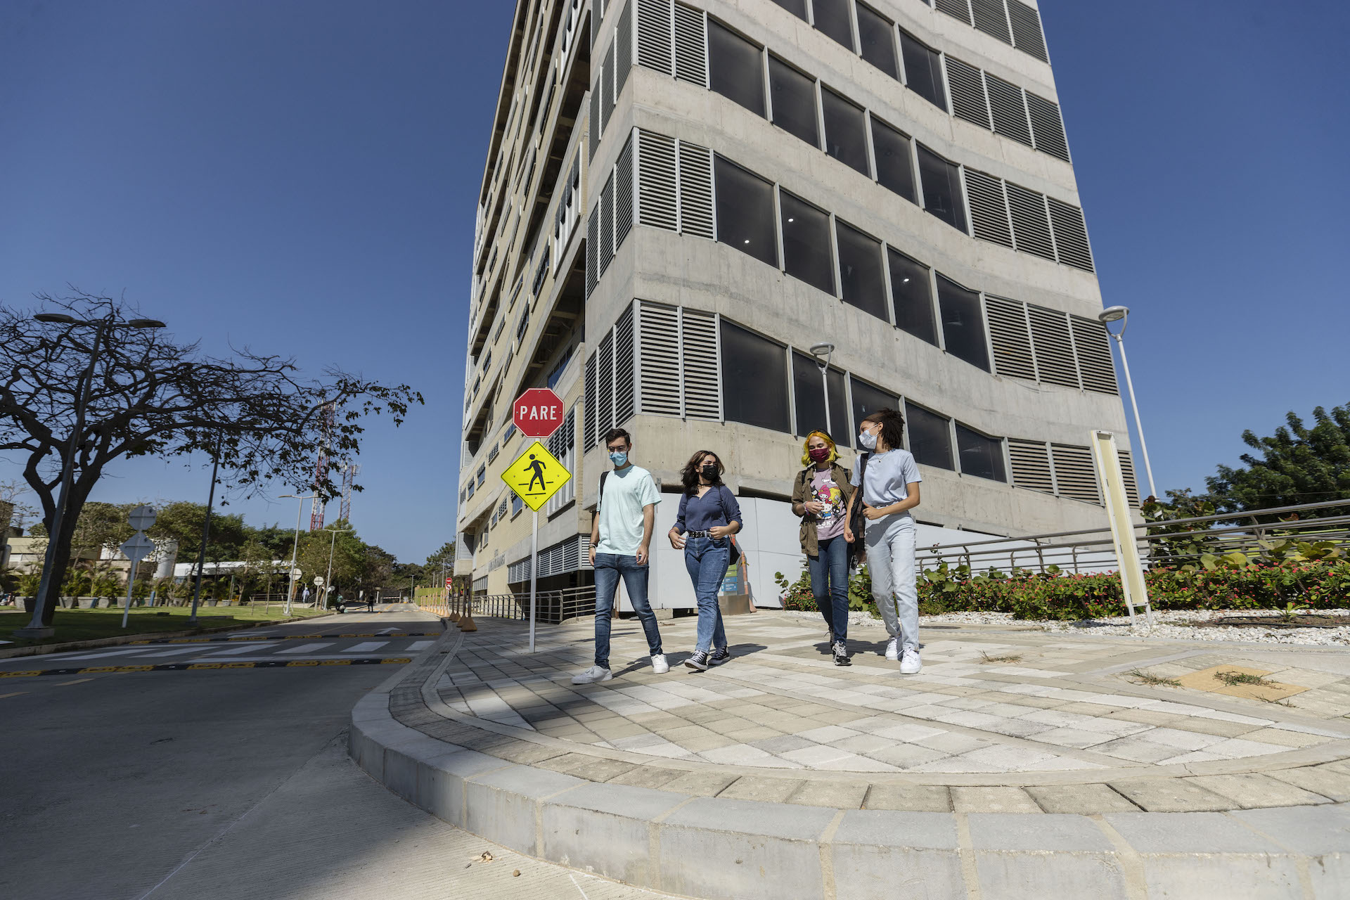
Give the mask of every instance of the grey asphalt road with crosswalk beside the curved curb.
<path id="1" fill-rule="evenodd" d="M 0 660 L 40 672 L 0 677 L 0 897 L 655 896 L 487 845 L 351 765 L 352 704 L 439 634 L 348 613 Z"/>

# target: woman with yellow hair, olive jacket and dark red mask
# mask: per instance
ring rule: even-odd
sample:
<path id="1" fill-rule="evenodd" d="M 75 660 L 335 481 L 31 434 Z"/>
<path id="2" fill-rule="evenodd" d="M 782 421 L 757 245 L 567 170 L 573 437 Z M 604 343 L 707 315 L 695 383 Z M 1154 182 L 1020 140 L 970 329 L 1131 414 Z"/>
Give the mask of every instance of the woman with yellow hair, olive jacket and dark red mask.
<path id="1" fill-rule="evenodd" d="M 811 573 L 811 595 L 829 627 L 834 665 L 848 658 L 848 540 L 844 530 L 853 486 L 838 464 L 838 451 L 825 432 L 811 432 L 792 486 L 792 513 L 802 517 L 802 552 Z"/>

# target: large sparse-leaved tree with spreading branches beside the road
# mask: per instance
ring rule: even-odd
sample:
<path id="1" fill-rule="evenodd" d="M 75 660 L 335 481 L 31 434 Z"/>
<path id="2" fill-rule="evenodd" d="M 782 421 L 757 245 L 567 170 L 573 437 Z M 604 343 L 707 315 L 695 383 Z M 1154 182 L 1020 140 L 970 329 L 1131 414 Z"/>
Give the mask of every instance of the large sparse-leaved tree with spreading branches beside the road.
<path id="1" fill-rule="evenodd" d="M 329 471 L 340 472 L 359 451 L 366 416 L 389 413 L 398 425 L 410 403 L 423 402 L 408 385 L 387 387 L 336 368 L 306 378 L 294 359 L 247 347 L 231 358 L 208 356 L 196 341 L 180 344 L 159 329 L 126 327 L 136 310 L 124 300 L 72 290 L 38 300 L 43 312 L 105 322 L 92 370 L 94 329 L 39 322 L 35 310 L 0 304 L 0 453 L 20 457 L 55 542 L 47 595 L 36 600 L 47 625 L 80 510 L 113 460 L 201 452 L 219 459 L 220 483 L 243 497 L 281 482 L 332 498 L 339 487 L 331 479 L 315 484 L 320 448 L 335 461 Z M 329 403 L 338 410 L 331 429 Z M 61 472 L 72 455 L 65 514 L 53 533 Z"/>

